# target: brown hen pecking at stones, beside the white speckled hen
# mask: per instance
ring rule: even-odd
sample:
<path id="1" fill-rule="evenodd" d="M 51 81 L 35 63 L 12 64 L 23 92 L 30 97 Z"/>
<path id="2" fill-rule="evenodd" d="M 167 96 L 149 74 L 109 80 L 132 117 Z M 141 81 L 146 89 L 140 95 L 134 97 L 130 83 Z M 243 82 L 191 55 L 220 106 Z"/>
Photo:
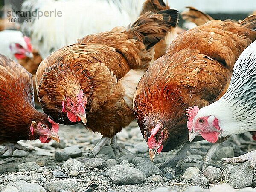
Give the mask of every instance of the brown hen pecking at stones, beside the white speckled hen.
<path id="1" fill-rule="evenodd" d="M 187 143 L 185 110 L 215 101 L 237 58 L 256 38 L 255 18 L 241 23 L 212 20 L 183 32 L 143 75 L 134 95 L 134 112 L 151 160 L 157 152 Z"/>

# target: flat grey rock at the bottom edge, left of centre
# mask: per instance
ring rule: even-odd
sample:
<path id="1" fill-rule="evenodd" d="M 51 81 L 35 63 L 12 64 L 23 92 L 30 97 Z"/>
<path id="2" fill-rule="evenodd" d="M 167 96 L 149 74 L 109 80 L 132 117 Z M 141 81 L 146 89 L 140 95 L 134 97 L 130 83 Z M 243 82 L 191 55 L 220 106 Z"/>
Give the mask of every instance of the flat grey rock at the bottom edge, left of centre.
<path id="1" fill-rule="evenodd" d="M 77 181 L 58 180 L 44 183 L 44 189 L 47 191 L 56 191 L 57 189 L 76 191 L 79 189 L 79 183 Z"/>

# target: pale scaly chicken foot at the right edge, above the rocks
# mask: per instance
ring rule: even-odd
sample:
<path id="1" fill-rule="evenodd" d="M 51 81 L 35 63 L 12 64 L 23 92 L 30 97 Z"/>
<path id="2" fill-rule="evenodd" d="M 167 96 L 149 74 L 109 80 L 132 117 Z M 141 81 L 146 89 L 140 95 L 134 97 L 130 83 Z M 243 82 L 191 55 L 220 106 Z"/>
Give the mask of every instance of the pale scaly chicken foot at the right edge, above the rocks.
<path id="1" fill-rule="evenodd" d="M 222 158 L 221 163 L 243 163 L 245 161 L 250 162 L 250 166 L 256 169 L 256 150 L 250 151 L 244 155 L 233 158 Z"/>

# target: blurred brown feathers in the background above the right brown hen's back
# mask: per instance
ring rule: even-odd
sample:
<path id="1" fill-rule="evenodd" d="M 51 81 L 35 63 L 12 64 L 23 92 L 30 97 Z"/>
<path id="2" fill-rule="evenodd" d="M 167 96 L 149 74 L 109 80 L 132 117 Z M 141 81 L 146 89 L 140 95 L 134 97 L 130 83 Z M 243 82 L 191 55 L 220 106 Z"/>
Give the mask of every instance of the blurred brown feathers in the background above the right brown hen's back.
<path id="1" fill-rule="evenodd" d="M 197 26 L 203 25 L 204 23 L 214 20 L 209 14 L 203 13 L 202 11 L 199 11 L 195 9 L 194 7 L 186 7 L 189 10 L 183 11 L 180 16 L 183 20 L 187 20 L 190 22 L 195 23 Z"/>

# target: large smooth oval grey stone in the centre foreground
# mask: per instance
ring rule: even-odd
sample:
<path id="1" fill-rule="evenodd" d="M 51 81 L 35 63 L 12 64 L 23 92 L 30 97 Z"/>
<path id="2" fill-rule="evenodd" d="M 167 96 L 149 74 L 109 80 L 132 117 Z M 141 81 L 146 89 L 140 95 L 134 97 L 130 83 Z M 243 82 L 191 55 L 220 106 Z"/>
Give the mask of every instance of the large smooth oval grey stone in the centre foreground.
<path id="1" fill-rule="evenodd" d="M 108 176 L 116 185 L 141 184 L 146 178 L 145 174 L 140 170 L 122 165 L 112 166 L 108 170 Z"/>

